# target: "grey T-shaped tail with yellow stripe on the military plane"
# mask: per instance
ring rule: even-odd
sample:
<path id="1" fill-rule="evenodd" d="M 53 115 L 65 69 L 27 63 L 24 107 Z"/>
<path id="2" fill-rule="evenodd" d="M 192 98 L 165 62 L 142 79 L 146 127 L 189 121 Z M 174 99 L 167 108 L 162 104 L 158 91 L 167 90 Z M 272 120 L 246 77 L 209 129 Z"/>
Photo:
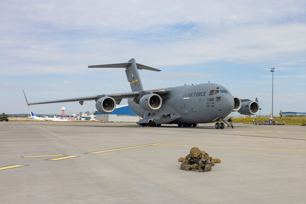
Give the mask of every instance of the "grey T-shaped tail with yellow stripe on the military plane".
<path id="1" fill-rule="evenodd" d="M 94 66 L 88 66 L 88 68 L 125 68 L 126 77 L 128 79 L 128 82 L 130 83 L 132 91 L 144 91 L 144 87 L 142 86 L 138 69 L 147 69 L 157 72 L 161 71 L 159 69 L 138 64 L 136 63 L 134 58 L 130 59 L 126 63 L 94 65 Z"/>

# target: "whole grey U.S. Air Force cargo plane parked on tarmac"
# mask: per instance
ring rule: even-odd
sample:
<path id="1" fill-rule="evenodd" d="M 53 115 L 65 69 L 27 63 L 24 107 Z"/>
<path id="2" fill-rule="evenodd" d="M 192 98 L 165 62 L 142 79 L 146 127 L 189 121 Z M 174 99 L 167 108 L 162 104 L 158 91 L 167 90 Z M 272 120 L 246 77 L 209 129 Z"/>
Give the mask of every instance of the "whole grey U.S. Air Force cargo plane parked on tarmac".
<path id="1" fill-rule="evenodd" d="M 138 69 L 157 72 L 161 70 L 138 64 L 133 58 L 126 63 L 94 65 L 88 68 L 125 68 L 132 92 L 35 103 L 27 101 L 28 106 L 73 101 L 83 105 L 84 101 L 95 100 L 97 110 L 107 114 L 113 112 L 116 104 L 120 104 L 123 98 L 128 98 L 129 107 L 143 118 L 137 122 L 141 126 L 160 127 L 161 124 L 177 124 L 179 127 L 191 127 L 199 123 L 215 122 L 216 129 L 223 129 L 225 127 L 223 122 L 234 128 L 228 117 L 231 112 L 238 111 L 242 115 L 254 115 L 259 112 L 257 98 L 256 101 L 240 100 L 216 83 L 144 90 Z"/>

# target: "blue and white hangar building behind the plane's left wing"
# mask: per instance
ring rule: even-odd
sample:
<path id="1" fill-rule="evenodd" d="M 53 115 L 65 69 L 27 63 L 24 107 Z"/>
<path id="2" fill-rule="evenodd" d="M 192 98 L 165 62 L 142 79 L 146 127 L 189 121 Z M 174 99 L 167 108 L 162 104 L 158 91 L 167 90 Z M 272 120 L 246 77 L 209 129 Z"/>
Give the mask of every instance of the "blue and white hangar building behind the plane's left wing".
<path id="1" fill-rule="evenodd" d="M 129 105 L 117 106 L 115 110 L 109 114 L 95 111 L 96 121 L 138 122 L 140 119 L 142 118 L 132 111 Z"/>

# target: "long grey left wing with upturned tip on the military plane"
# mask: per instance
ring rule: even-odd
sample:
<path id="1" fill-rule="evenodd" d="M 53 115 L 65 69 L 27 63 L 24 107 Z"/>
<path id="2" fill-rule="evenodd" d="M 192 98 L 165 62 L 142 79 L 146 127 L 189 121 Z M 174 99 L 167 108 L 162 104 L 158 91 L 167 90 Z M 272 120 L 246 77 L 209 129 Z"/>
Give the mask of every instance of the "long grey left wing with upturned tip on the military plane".
<path id="1" fill-rule="evenodd" d="M 24 93 L 24 91 L 23 91 Z M 84 101 L 97 101 L 99 98 L 102 98 L 104 96 L 110 96 L 118 101 L 120 103 L 121 99 L 123 98 L 135 98 L 138 96 L 140 92 L 134 91 L 134 92 L 127 92 L 127 93 L 118 93 L 118 94 L 104 94 L 104 95 L 96 95 L 96 96 L 88 96 L 88 97 L 80 97 L 80 98 L 67 98 L 67 99 L 60 99 L 60 100 L 53 100 L 53 101 L 42 101 L 42 102 L 32 102 L 29 103 L 27 100 L 27 97 L 24 94 L 25 100 L 27 102 L 27 105 L 36 105 L 36 104 L 46 104 L 46 103 L 60 103 L 60 102 L 74 102 L 78 101 L 81 105 L 83 105 Z"/>

